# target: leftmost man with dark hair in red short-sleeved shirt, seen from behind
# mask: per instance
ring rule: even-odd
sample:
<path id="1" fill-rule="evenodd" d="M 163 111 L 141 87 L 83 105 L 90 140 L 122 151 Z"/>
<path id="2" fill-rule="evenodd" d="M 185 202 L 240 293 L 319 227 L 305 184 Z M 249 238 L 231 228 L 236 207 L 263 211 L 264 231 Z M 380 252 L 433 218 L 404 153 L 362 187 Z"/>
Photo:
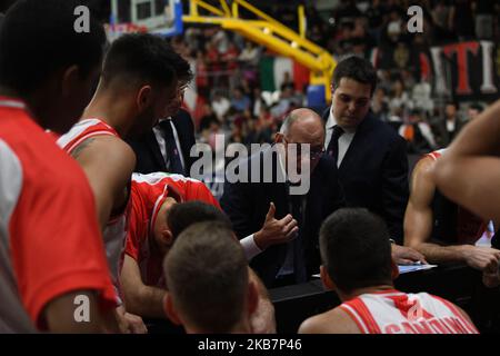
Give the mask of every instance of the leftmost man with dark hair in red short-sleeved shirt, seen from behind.
<path id="1" fill-rule="evenodd" d="M 91 188 L 43 131 L 68 130 L 99 78 L 106 33 L 92 16 L 76 32 L 78 6 L 20 0 L 1 23 L 0 333 L 118 330 Z"/>

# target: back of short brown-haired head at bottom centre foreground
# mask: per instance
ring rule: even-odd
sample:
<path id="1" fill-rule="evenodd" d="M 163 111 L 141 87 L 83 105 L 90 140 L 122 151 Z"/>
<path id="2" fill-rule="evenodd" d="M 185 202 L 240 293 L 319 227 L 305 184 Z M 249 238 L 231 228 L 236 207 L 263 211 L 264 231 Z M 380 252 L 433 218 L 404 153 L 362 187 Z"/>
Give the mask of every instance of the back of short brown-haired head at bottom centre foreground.
<path id="1" fill-rule="evenodd" d="M 187 333 L 252 332 L 256 285 L 241 245 L 224 224 L 186 229 L 164 260 L 169 294 L 164 309 Z"/>

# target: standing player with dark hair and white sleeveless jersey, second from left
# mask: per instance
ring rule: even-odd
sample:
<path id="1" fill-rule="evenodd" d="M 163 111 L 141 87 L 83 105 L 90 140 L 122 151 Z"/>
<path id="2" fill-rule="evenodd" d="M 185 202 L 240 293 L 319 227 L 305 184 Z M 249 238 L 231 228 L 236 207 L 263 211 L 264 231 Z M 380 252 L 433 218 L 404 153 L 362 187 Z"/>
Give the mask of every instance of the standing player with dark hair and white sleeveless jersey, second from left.
<path id="1" fill-rule="evenodd" d="M 81 165 L 93 189 L 118 293 L 136 166 L 136 155 L 123 139 L 150 130 L 176 99 L 177 78 L 168 63 L 169 50 L 162 38 L 148 33 L 126 34 L 113 41 L 83 118 L 58 140 Z M 122 306 L 118 313 L 127 317 Z"/>

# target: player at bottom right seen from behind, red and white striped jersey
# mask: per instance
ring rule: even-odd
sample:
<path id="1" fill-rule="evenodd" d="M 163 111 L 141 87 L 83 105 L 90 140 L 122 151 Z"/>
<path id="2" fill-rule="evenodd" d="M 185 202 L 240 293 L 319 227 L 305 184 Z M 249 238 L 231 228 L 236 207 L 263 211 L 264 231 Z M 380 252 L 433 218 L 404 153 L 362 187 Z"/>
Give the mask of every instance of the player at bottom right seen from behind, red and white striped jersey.
<path id="1" fill-rule="evenodd" d="M 342 304 L 302 323 L 303 334 L 477 334 L 469 316 L 427 293 L 396 290 L 383 221 L 367 209 L 341 209 L 320 231 L 321 279 Z"/>

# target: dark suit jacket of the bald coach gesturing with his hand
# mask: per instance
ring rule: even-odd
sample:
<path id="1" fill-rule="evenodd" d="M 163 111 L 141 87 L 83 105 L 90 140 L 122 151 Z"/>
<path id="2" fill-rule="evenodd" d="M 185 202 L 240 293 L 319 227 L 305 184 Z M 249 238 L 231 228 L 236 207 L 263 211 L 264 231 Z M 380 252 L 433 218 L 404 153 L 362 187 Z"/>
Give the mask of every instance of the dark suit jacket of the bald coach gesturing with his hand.
<path id="1" fill-rule="evenodd" d="M 277 159 L 272 158 L 273 156 L 272 150 L 269 149 L 243 160 L 240 167 L 244 171 L 251 172 L 251 162 L 260 158 L 260 178 L 262 179 L 262 172 L 264 171 L 262 161 L 264 159 L 271 158 L 274 172 L 280 169 Z M 320 159 L 311 175 L 310 190 L 306 199 L 301 241 L 308 276 L 311 276 L 319 273 L 318 233 L 321 222 L 331 212 L 344 205 L 343 194 L 338 182 L 337 169 L 331 158 L 324 156 Z M 261 229 L 271 201 L 274 202 L 277 209 L 274 215 L 277 219 L 281 219 L 290 212 L 287 184 L 278 182 L 276 177 L 272 179 L 272 182 L 230 184 L 227 181 L 221 198 L 221 206 L 231 219 L 238 238 L 241 239 Z M 271 246 L 256 256 L 251 260 L 250 266 L 254 268 L 266 286 L 272 287 L 274 278 L 284 263 L 286 255 L 286 244 Z"/>

